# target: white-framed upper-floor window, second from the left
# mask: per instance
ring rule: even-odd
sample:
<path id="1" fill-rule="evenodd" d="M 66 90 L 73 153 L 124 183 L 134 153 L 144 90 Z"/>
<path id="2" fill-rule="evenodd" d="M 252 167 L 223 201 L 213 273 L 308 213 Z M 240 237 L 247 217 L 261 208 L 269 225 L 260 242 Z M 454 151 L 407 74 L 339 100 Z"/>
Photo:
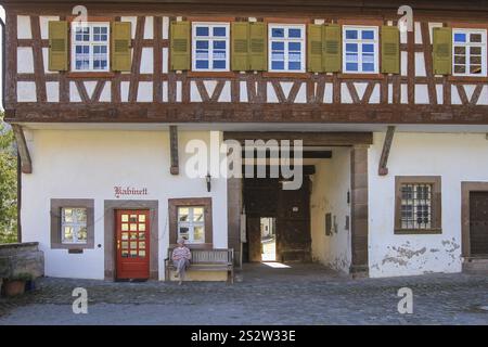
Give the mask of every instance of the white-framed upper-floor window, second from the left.
<path id="1" fill-rule="evenodd" d="M 192 69 L 229 70 L 229 24 L 193 23 Z"/>

